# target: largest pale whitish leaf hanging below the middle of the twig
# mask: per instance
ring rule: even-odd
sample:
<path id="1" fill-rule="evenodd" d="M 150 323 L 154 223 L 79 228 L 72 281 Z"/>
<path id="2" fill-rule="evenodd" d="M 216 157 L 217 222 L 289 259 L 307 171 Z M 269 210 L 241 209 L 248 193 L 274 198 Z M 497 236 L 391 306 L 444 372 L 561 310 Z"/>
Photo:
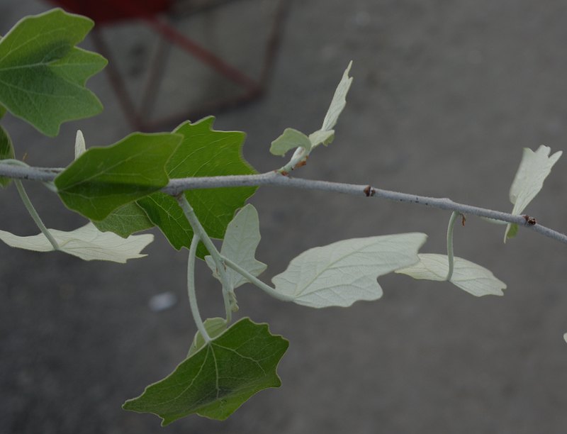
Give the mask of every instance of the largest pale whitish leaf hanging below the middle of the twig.
<path id="1" fill-rule="evenodd" d="M 376 277 L 415 264 L 425 233 L 400 233 L 342 240 L 315 247 L 294 258 L 272 282 L 276 291 L 303 306 L 350 306 L 376 300 Z"/>

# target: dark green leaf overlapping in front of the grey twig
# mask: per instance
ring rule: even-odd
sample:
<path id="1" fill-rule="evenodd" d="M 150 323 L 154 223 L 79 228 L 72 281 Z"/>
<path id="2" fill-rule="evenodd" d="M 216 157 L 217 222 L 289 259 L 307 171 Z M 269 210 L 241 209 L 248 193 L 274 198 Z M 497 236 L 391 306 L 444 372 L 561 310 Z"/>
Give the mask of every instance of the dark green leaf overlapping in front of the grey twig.
<path id="1" fill-rule="evenodd" d="M 55 178 L 68 208 L 91 220 L 165 187 L 164 166 L 181 142 L 170 133 L 134 133 L 108 148 L 91 148 Z"/>

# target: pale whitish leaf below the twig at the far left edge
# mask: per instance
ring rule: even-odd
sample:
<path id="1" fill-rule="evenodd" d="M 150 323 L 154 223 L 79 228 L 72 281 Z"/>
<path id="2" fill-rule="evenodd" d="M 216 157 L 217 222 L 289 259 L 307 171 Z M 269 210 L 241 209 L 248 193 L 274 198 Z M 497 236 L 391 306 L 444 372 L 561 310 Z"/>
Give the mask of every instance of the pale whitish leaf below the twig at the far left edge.
<path id="1" fill-rule="evenodd" d="M 62 252 L 80 257 L 82 260 L 102 260 L 126 262 L 129 259 L 144 257 L 140 252 L 152 242 L 154 235 L 132 235 L 127 239 L 113 233 L 102 233 L 92 223 L 82 228 L 65 232 L 49 229 Z M 0 240 L 11 247 L 34 250 L 35 252 L 51 252 L 53 246 L 43 233 L 28 237 L 20 237 L 13 233 L 0 230 Z"/>

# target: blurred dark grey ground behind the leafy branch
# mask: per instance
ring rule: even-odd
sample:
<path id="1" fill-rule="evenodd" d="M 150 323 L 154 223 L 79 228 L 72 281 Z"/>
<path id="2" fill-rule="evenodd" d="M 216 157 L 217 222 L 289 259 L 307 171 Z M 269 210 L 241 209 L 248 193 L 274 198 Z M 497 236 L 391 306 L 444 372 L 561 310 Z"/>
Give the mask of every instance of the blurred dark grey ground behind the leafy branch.
<path id="1" fill-rule="evenodd" d="M 298 177 L 510 211 L 508 191 L 522 148 L 566 149 L 566 2 L 308 0 L 286 6 L 262 98 L 206 113 L 217 116 L 216 129 L 247 133 L 245 158 L 260 172 L 286 161 L 268 152 L 284 128 L 309 133 L 320 127 L 350 60 L 354 82 L 335 142 L 313 152 Z M 51 7 L 1 0 L 0 34 Z M 259 79 L 278 8 L 276 1 L 233 0 L 199 13 L 173 9 L 169 19 Z M 159 38 L 139 21 L 100 27 L 140 102 Z M 88 37 L 82 47 L 94 50 L 94 43 Z M 163 64 L 148 128 L 160 118 L 199 113 L 220 97 L 242 96 L 240 87 L 178 48 Z M 87 146 L 130 133 L 133 116 L 106 74 L 90 79 L 89 88 L 103 113 L 64 124 L 57 138 L 6 115 L 2 125 L 16 157 L 62 167 L 73 158 L 77 128 Z M 526 210 L 562 231 L 565 168 L 559 160 Z M 84 224 L 44 187 L 26 187 L 47 227 Z M 14 187 L 1 191 L 0 200 L 1 229 L 38 233 Z M 444 252 L 447 212 L 275 187 L 259 189 L 252 203 L 262 233 L 257 257 L 269 265 L 265 281 L 303 250 L 344 238 L 422 231 L 429 235 L 424 252 Z M 184 359 L 196 331 L 184 284 L 186 250 L 176 252 L 154 233 L 148 257 L 126 265 L 0 245 L 0 432 L 565 432 L 566 246 L 527 230 L 504 245 L 502 226 L 473 217 L 456 228 L 456 255 L 493 271 L 507 283 L 505 296 L 477 299 L 448 283 L 393 275 L 380 279 L 379 301 L 315 311 L 242 286 L 238 316 L 269 322 L 272 333 L 290 340 L 279 366 L 283 386 L 260 392 L 222 423 L 190 416 L 160 428 L 155 416 L 123 411 L 125 399 Z M 164 292 L 174 304 L 156 310 L 151 301 Z M 206 316 L 222 315 L 220 289 L 205 267 L 198 269 L 198 296 Z"/>

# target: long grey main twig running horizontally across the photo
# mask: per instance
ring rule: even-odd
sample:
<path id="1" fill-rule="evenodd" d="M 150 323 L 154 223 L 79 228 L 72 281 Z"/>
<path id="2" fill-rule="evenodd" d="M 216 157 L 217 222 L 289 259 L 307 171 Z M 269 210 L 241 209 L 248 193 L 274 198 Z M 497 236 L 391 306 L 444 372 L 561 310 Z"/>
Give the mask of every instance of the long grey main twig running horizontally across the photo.
<path id="1" fill-rule="evenodd" d="M 10 165 L 0 163 L 0 176 L 13 177 L 16 179 L 36 179 L 40 181 L 52 181 L 55 179 L 57 169 L 40 169 L 37 167 L 18 167 L 14 170 Z M 266 172 L 254 175 L 232 175 L 225 177 L 197 177 L 197 178 L 180 178 L 172 179 L 166 187 L 162 189 L 164 193 L 175 196 L 179 192 L 191 189 L 215 189 L 218 187 L 258 187 L 263 185 L 274 185 L 281 187 L 294 187 L 298 189 L 328 191 L 342 194 L 351 194 L 354 196 L 367 196 L 390 201 L 405 202 L 431 208 L 445 209 L 447 211 L 456 211 L 461 214 L 491 218 L 493 220 L 505 221 L 507 223 L 516 223 L 518 226 L 529 228 L 541 235 L 553 238 L 561 243 L 567 244 L 567 235 L 558 232 L 539 223 L 529 223 L 524 216 L 494 211 L 488 208 L 459 204 L 448 198 L 436 198 L 428 196 L 419 196 L 417 194 L 399 193 L 398 191 L 390 191 L 377 189 L 369 185 L 361 184 L 344 184 L 339 182 L 318 181 L 315 179 L 301 179 L 286 177 L 276 172 Z"/>

